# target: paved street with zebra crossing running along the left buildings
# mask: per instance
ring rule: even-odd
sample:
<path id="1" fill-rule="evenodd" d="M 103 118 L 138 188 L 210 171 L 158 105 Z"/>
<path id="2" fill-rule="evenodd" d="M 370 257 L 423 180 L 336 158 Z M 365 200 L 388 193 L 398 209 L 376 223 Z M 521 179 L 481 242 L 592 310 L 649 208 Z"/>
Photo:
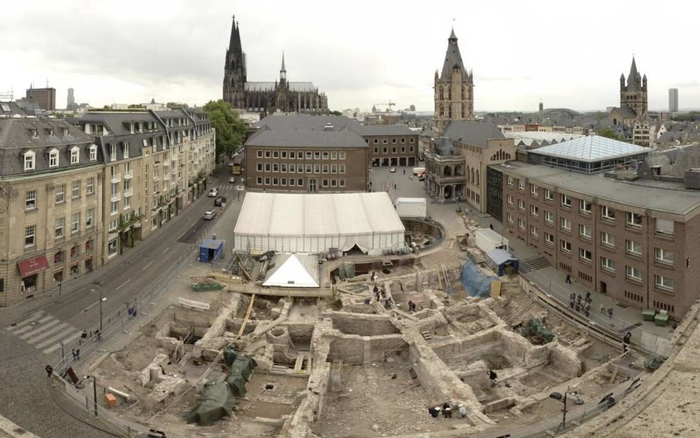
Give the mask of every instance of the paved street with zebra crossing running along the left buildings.
<path id="1" fill-rule="evenodd" d="M 230 204 L 227 217 L 233 217 L 235 223 L 240 192 L 228 184 L 229 176 L 228 167 L 220 168 L 208 187 L 220 187 L 220 194 Z M 213 205 L 214 198 L 202 196 L 148 240 L 125 249 L 109 265 L 66 283 L 61 296 L 56 292 L 52 297 L 0 309 L 0 397 L 5 400 L 0 404 L 0 414 L 45 438 L 110 436 L 66 415 L 52 402 L 43 367 L 60 359 L 61 341 L 66 352 L 70 352 L 83 330 L 99 328 L 100 290 L 106 297 L 102 301 L 106 324 L 109 317 L 124 312 L 125 303 L 133 302 L 183 252 L 191 249 L 202 233 L 214 226 L 213 221 L 202 219 L 204 211 Z M 221 226 L 230 226 L 230 230 L 219 231 L 222 235 L 232 233 L 230 220 Z"/>

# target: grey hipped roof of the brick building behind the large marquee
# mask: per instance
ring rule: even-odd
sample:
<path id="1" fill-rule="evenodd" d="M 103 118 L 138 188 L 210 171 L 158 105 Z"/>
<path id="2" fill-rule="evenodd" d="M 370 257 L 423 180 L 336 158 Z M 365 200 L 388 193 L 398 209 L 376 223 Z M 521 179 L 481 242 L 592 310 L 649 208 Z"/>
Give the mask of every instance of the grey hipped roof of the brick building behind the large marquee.
<path id="1" fill-rule="evenodd" d="M 356 132 L 312 130 L 262 130 L 252 135 L 246 146 L 366 148 Z"/>

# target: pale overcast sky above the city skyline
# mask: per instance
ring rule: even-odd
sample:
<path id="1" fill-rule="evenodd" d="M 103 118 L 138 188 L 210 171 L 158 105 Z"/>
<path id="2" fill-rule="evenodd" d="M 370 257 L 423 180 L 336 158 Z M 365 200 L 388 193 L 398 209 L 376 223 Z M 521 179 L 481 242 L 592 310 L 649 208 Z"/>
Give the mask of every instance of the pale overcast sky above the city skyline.
<path id="1" fill-rule="evenodd" d="M 569 6 L 571 5 L 571 6 Z M 700 107 L 700 6 L 691 1 L 12 1 L 3 3 L 0 93 L 29 83 L 104 104 L 221 98 L 231 16 L 249 81 L 313 81 L 331 109 L 433 109 L 433 74 L 454 30 L 475 110 L 619 104 L 632 53 L 650 109 Z"/>

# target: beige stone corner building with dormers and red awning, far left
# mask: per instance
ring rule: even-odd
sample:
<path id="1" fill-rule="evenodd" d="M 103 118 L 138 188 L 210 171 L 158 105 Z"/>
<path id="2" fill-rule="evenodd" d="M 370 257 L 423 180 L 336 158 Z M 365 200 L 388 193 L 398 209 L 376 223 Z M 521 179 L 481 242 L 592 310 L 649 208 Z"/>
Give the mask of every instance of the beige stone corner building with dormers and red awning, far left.
<path id="1" fill-rule="evenodd" d="M 0 118 L 0 151 L 6 307 L 102 265 L 103 164 L 90 135 L 57 119 Z"/>

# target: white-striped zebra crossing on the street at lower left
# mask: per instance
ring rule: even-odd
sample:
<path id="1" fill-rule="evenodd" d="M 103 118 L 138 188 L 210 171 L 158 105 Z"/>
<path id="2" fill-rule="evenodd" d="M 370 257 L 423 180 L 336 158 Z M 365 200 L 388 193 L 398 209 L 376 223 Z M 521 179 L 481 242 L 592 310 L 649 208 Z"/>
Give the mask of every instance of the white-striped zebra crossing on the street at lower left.
<path id="1" fill-rule="evenodd" d="M 62 322 L 43 310 L 38 310 L 16 324 L 5 327 L 22 341 L 48 355 L 61 347 L 61 342 L 73 342 L 83 333 L 67 322 Z"/>

